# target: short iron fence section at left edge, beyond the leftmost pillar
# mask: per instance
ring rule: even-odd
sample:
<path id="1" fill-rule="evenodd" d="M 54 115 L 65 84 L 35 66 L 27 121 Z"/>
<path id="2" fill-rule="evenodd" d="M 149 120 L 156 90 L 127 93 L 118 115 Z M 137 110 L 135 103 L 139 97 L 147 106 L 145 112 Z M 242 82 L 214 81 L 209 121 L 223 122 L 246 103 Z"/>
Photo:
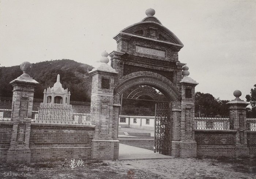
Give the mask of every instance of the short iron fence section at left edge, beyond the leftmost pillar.
<path id="1" fill-rule="evenodd" d="M 11 101 L 0 100 L 0 121 L 12 121 L 12 110 Z"/>

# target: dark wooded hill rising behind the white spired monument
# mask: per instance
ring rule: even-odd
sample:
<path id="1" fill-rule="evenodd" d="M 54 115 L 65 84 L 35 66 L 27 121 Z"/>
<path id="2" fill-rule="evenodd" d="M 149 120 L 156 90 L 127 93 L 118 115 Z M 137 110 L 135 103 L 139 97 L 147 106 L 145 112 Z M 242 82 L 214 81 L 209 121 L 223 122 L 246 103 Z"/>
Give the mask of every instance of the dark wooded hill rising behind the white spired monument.
<path id="1" fill-rule="evenodd" d="M 30 76 L 38 81 L 34 98 L 44 98 L 44 89 L 53 87 L 57 75 L 60 74 L 60 83 L 63 88 L 71 92 L 72 101 L 91 101 L 91 77 L 89 71 L 92 66 L 78 63 L 74 60 L 53 60 L 33 63 Z M 20 66 L 0 67 L 0 97 L 12 97 L 10 81 L 22 75 Z"/>

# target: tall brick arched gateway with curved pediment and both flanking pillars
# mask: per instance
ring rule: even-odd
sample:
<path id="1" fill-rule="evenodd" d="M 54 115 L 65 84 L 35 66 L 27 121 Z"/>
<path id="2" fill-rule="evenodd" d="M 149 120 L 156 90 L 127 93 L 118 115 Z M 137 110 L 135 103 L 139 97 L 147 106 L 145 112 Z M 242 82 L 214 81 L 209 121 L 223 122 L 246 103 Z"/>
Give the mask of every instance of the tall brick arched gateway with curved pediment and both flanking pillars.
<path id="1" fill-rule="evenodd" d="M 103 52 L 98 66 L 90 72 L 93 78 L 91 116 L 95 123 L 91 158 L 118 159 L 120 95 L 136 85 L 156 88 L 172 104 L 171 108 L 167 105 L 170 113 L 162 118 L 162 122 L 172 123 L 165 143 L 169 151 L 162 153 L 175 157 L 196 156 L 193 124 L 198 83 L 188 77 L 188 67 L 182 71 L 185 63 L 178 61 L 183 44 L 154 14 L 154 9 L 147 9 L 146 18 L 114 36 L 117 51 L 109 54 L 111 66 L 107 64 L 108 53 Z M 161 105 L 157 110 L 161 110 Z M 164 135 L 165 129 L 161 129 L 158 132 Z"/>

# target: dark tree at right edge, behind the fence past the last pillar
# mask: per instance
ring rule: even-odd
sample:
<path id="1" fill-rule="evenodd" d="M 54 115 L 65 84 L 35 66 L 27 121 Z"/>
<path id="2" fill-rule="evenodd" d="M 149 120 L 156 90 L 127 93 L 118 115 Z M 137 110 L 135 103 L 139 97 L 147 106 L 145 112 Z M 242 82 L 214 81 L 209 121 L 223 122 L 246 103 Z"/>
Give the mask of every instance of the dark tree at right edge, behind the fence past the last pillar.
<path id="1" fill-rule="evenodd" d="M 246 108 L 248 118 L 256 118 L 256 84 L 253 85 L 254 88 L 251 89 L 251 95 L 246 95 L 246 101 L 250 102 L 252 109 Z"/>

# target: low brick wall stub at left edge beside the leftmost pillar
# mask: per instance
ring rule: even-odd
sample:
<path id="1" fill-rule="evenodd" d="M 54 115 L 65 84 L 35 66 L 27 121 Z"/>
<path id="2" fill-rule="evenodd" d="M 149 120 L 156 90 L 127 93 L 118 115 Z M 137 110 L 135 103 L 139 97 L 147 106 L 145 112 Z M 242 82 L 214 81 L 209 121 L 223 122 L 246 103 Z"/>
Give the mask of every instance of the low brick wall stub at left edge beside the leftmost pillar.
<path id="1" fill-rule="evenodd" d="M 0 162 L 6 162 L 13 122 L 0 122 Z"/>

